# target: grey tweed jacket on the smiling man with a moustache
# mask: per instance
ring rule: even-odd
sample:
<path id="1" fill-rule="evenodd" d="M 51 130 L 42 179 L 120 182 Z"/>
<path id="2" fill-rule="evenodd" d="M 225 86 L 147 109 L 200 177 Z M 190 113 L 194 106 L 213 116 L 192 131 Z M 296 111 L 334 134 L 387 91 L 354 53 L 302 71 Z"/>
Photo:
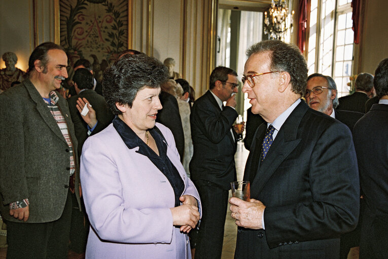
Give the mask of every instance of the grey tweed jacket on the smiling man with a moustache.
<path id="1" fill-rule="evenodd" d="M 67 102 L 57 103 L 66 120 L 76 159 L 76 195 L 79 202 L 77 139 Z M 27 223 L 60 218 L 69 184 L 68 145 L 37 89 L 26 79 L 0 95 L 0 205 L 2 217 L 9 203 L 29 199 Z"/>

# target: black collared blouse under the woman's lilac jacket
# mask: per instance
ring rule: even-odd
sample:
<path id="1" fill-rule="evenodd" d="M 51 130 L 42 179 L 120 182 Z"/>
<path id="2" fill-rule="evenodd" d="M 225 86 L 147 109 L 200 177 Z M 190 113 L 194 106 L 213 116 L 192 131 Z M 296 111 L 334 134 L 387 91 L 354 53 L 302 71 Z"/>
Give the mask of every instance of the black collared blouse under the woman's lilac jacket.
<path id="1" fill-rule="evenodd" d="M 167 157 L 167 143 L 162 133 L 154 128 L 151 128 L 148 132 L 155 139 L 156 146 L 159 151 L 159 156 L 152 150 L 143 140 L 141 140 L 132 129 L 125 124 L 118 116 L 113 119 L 113 126 L 119 133 L 121 139 L 129 149 L 139 147 L 136 153 L 147 156 L 151 162 L 158 167 L 163 175 L 168 179 L 175 194 L 175 207 L 181 205 L 179 197 L 181 197 L 185 190 L 184 182 L 179 175 L 177 168 L 171 163 Z M 159 134 L 160 133 L 160 134 Z"/>

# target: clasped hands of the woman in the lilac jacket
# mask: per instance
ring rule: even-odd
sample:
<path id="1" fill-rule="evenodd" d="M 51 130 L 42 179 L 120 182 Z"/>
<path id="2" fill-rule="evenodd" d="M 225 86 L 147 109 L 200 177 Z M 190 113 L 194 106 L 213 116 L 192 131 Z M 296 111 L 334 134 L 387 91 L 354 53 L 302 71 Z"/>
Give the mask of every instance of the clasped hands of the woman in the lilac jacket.
<path id="1" fill-rule="evenodd" d="M 189 233 L 200 219 L 198 202 L 191 195 L 182 195 L 179 200 L 182 202 L 181 206 L 170 208 L 172 223 L 174 226 L 181 226 L 182 232 Z"/>

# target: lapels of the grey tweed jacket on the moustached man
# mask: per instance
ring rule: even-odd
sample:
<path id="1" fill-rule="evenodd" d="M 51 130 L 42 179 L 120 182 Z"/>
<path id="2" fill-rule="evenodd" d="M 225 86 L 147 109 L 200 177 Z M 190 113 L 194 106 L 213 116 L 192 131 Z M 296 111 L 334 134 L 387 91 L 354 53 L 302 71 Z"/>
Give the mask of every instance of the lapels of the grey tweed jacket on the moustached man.
<path id="1" fill-rule="evenodd" d="M 60 128 L 58 127 L 57 122 L 55 121 L 53 115 L 51 114 L 50 110 L 47 108 L 47 104 L 43 101 L 41 95 L 39 94 L 38 90 L 34 87 L 34 85 L 26 79 L 25 87 L 31 97 L 31 100 L 34 101 L 37 104 L 37 110 L 42 116 L 43 120 L 46 122 L 46 124 L 49 126 L 51 131 L 58 136 L 63 142 L 66 143 L 66 140 L 64 139 L 62 132 L 60 131 Z M 66 114 L 67 115 L 67 114 Z M 69 117 L 63 114 L 65 117 L 66 122 L 69 119 Z M 68 125 L 68 124 L 67 124 Z"/>

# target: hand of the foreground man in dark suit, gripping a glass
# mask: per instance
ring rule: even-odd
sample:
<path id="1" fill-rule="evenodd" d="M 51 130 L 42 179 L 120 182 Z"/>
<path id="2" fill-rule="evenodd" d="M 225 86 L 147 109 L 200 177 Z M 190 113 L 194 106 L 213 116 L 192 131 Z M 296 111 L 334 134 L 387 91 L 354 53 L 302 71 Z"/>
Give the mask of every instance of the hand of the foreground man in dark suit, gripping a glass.
<path id="1" fill-rule="evenodd" d="M 255 199 L 243 201 L 236 197 L 229 199 L 231 216 L 235 219 L 235 224 L 248 229 L 262 229 L 262 218 L 265 209 L 264 204 Z"/>

